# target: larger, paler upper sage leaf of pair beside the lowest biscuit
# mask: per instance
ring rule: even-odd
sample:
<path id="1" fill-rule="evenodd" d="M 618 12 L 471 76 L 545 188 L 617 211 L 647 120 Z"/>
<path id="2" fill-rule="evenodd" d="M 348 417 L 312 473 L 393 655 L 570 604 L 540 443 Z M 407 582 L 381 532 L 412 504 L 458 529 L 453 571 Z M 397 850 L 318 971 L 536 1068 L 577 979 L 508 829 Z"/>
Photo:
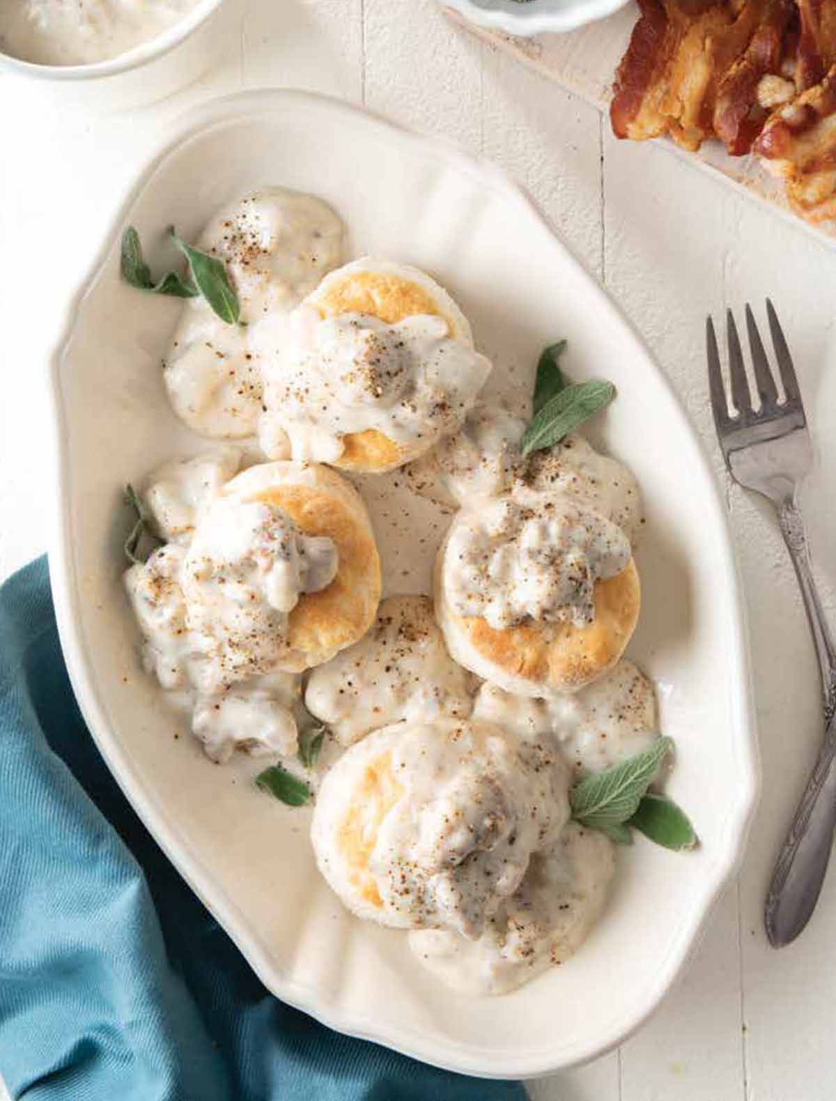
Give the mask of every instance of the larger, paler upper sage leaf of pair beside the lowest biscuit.
<path id="1" fill-rule="evenodd" d="M 569 788 L 572 817 L 583 826 L 596 829 L 621 826 L 628 821 L 639 809 L 672 745 L 670 738 L 658 738 L 652 745 L 627 761 L 583 776 Z"/>

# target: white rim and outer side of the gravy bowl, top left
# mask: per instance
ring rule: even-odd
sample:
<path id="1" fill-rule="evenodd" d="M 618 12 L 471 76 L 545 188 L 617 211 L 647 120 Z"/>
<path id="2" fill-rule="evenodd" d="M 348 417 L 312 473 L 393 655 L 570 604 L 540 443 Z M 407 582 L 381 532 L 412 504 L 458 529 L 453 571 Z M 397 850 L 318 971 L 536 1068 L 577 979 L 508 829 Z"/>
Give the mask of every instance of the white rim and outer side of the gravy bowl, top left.
<path id="1" fill-rule="evenodd" d="M 0 68 L 37 80 L 47 90 L 52 85 L 62 101 L 68 96 L 87 106 L 127 107 L 160 99 L 195 80 L 208 66 L 214 37 L 209 24 L 217 22 L 211 17 L 222 4 L 224 0 L 200 0 L 167 31 L 107 61 L 41 65 L 0 51 Z"/>

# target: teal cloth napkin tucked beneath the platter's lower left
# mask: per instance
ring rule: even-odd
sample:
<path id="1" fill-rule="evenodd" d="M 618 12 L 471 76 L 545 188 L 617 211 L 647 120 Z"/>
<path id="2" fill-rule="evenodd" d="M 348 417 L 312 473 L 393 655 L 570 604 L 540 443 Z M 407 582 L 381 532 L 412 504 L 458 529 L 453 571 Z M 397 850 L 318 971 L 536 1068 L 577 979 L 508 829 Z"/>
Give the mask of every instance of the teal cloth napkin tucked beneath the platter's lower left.
<path id="1" fill-rule="evenodd" d="M 108 772 L 44 558 L 0 588 L 0 1073 L 28 1101 L 523 1101 L 268 993 Z"/>

